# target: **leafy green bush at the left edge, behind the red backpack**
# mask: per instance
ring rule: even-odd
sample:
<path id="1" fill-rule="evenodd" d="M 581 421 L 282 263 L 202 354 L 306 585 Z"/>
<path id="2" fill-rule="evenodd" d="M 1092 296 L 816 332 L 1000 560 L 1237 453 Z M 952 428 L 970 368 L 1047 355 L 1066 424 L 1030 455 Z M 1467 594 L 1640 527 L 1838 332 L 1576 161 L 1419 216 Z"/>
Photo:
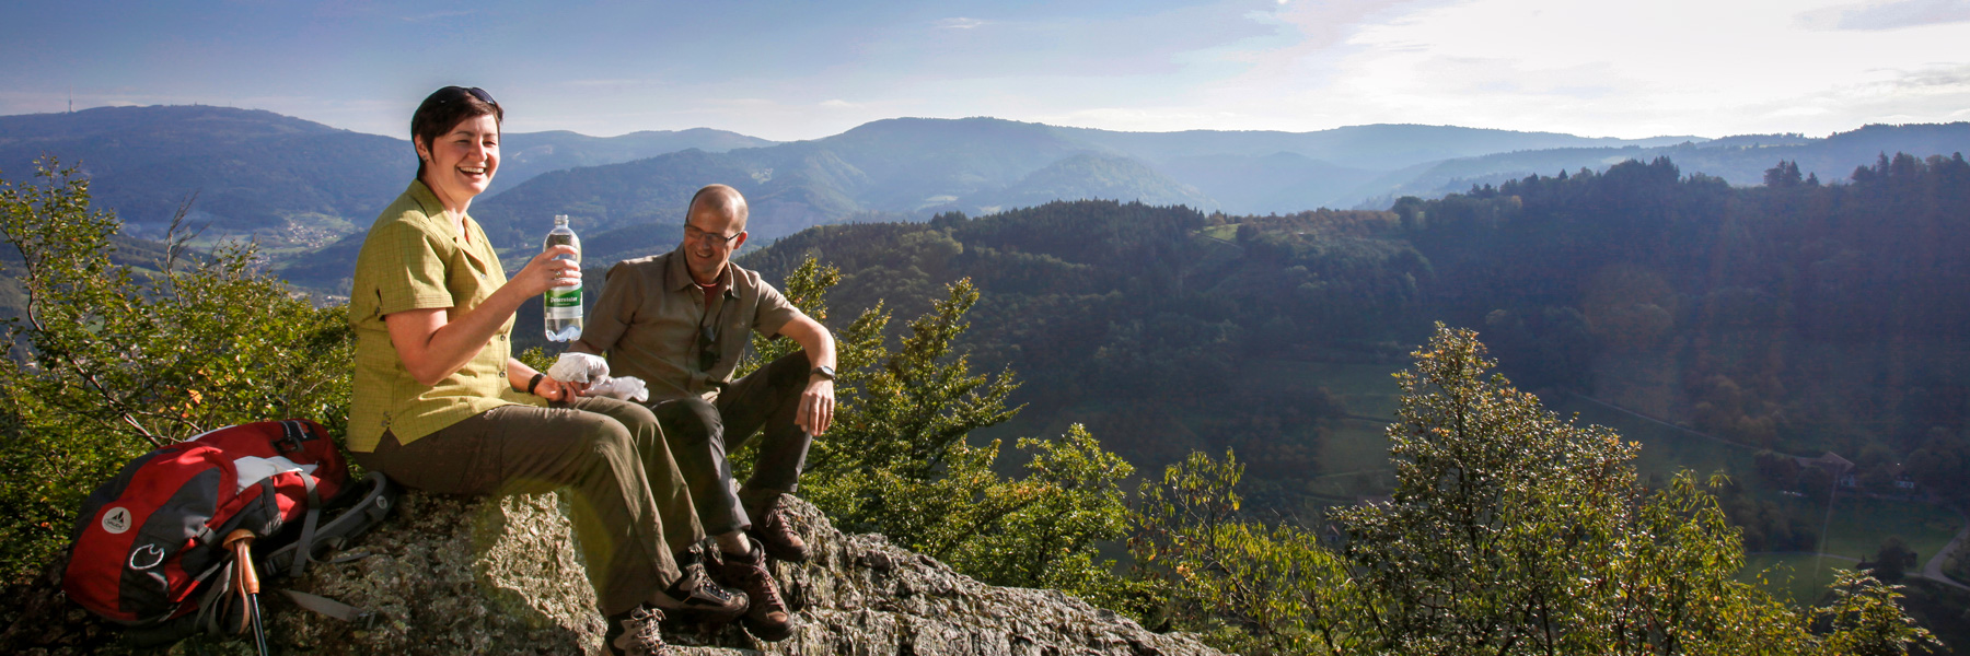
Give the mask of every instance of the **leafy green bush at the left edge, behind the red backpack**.
<path id="1" fill-rule="evenodd" d="M 37 183 L 0 181 L 6 274 L 26 297 L 0 361 L 10 579 L 59 552 L 81 498 L 144 451 L 268 418 L 347 424 L 343 307 L 292 295 L 252 244 L 195 256 L 177 238 L 156 262 L 122 260 L 118 227 L 53 162 Z"/>

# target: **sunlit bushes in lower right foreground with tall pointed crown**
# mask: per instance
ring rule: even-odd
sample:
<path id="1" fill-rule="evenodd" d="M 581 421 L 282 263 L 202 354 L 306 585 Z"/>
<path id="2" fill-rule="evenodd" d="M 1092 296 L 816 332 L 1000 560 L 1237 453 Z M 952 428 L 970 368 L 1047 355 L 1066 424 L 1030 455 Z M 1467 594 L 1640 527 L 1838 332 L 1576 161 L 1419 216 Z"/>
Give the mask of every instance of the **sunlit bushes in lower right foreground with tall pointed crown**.
<path id="1" fill-rule="evenodd" d="M 1334 512 L 1340 544 L 1241 516 L 1229 455 L 1194 455 L 1145 485 L 1131 546 L 1176 626 L 1247 654 L 1938 646 L 1872 577 L 1844 575 L 1816 611 L 1740 581 L 1743 548 L 1706 491 L 1722 479 L 1641 487 L 1635 443 L 1487 374 L 1476 333 L 1438 325 L 1412 357 L 1389 427 L 1397 489 Z"/>

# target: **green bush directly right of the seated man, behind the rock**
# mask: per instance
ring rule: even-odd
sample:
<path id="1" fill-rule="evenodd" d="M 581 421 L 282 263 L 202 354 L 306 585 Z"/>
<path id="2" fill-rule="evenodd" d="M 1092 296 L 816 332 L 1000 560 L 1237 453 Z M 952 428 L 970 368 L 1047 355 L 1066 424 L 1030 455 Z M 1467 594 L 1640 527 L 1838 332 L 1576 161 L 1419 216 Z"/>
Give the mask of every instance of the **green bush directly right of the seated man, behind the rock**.
<path id="1" fill-rule="evenodd" d="M 825 321 L 825 292 L 841 280 L 833 266 L 804 260 L 784 280 L 788 299 Z M 971 372 L 955 353 L 979 292 L 969 280 L 910 321 L 900 349 L 883 331 L 877 303 L 835 333 L 835 424 L 816 439 L 802 496 L 849 532 L 879 532 L 995 585 L 1052 587 L 1107 607 L 1143 599 L 1113 573 L 1097 544 L 1127 532 L 1121 481 L 1135 469 L 1101 449 L 1082 426 L 1058 439 L 1020 439 L 1032 457 L 1024 477 L 993 467 L 1001 443 L 971 445 L 979 427 L 1009 420 L 1013 372 Z M 792 353 L 788 341 L 755 339 L 741 370 Z M 745 463 L 747 459 L 739 459 Z"/>

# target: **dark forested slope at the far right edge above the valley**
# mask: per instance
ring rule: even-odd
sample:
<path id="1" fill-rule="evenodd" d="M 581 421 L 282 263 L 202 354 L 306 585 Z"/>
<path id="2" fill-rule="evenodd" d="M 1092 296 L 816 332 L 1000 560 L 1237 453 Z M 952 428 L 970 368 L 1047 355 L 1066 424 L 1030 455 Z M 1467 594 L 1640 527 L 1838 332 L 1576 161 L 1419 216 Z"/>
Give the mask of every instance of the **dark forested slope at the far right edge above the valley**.
<path id="1" fill-rule="evenodd" d="M 1485 329 L 1525 382 L 1970 492 L 1970 164 L 1881 156 L 1824 185 L 1785 162 L 1751 189 L 1678 173 L 1623 164 L 1397 213 L 1436 313 Z"/>

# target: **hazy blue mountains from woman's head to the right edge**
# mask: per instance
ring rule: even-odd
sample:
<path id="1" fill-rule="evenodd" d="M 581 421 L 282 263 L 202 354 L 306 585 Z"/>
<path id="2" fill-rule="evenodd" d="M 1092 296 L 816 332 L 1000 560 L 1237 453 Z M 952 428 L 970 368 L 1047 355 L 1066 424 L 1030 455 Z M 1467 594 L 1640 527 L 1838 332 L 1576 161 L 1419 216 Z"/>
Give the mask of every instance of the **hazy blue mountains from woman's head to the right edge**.
<path id="1" fill-rule="evenodd" d="M 753 201 L 755 238 L 770 240 L 847 217 L 979 215 L 1054 199 L 1145 201 L 1231 215 L 1387 209 L 1401 195 L 1438 197 L 1472 183 L 1606 169 L 1659 156 L 1674 158 L 1686 173 L 1738 185 L 1761 183 L 1779 160 L 1810 164 L 1834 181 L 1881 152 L 1956 150 L 1970 150 L 1970 124 L 1868 126 L 1824 140 L 1777 134 L 1710 142 L 1397 124 L 1320 132 L 1107 132 L 999 118 L 890 118 L 812 142 L 542 175 L 473 209 L 494 240 L 518 246 L 556 213 L 599 230 L 628 221 L 682 223 L 690 193 L 723 181 Z"/>

